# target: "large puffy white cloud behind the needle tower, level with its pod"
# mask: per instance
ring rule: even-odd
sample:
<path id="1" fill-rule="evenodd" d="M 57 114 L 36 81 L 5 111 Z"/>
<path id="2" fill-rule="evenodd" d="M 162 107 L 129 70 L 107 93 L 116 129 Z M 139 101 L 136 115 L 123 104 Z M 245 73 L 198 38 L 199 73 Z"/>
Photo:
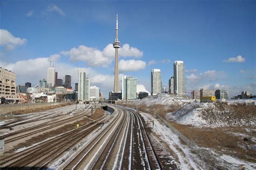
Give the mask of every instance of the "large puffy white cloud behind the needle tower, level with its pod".
<path id="1" fill-rule="evenodd" d="M 107 45 L 103 51 L 97 48 L 80 45 L 78 48 L 72 48 L 70 51 L 60 52 L 60 54 L 68 55 L 71 61 L 85 61 L 88 66 L 103 66 L 106 67 L 114 59 L 114 48 L 112 44 Z M 135 56 L 140 57 L 143 52 L 139 49 L 130 47 L 129 44 L 119 48 L 120 56 Z"/>

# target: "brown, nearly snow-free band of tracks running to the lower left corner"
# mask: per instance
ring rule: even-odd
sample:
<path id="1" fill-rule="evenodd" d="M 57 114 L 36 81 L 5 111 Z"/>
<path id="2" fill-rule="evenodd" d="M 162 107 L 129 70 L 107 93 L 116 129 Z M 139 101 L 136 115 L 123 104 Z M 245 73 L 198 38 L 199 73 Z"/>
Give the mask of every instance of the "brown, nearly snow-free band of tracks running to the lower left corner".
<path id="1" fill-rule="evenodd" d="M 10 155 L 9 157 L 0 160 L 0 167 L 1 169 L 33 168 L 35 166 L 44 168 L 44 165 L 48 164 L 59 154 L 76 146 L 80 140 L 85 138 L 93 130 L 99 128 L 99 126 L 103 124 L 105 118 L 106 116 L 101 117 L 90 124 L 81 126 L 79 129 L 66 132 L 24 151 Z"/>

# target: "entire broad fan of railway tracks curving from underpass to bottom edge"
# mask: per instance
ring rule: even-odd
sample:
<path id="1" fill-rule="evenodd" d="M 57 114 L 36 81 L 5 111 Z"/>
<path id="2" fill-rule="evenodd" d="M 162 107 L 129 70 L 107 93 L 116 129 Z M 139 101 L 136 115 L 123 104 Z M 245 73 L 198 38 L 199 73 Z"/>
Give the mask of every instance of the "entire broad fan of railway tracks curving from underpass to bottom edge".
<path id="1" fill-rule="evenodd" d="M 140 115 L 112 108 L 110 116 L 0 160 L 0 168 L 162 169 Z"/>

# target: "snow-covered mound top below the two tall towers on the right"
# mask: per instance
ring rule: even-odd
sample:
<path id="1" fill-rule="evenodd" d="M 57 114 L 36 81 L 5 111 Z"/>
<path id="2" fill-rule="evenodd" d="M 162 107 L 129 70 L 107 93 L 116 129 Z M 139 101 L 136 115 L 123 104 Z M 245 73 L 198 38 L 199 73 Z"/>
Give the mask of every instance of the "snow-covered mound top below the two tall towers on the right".
<path id="1" fill-rule="evenodd" d="M 176 96 L 176 95 L 170 95 L 170 94 L 157 94 L 155 96 L 148 96 L 143 98 L 142 100 L 138 101 L 138 104 L 146 104 L 146 105 L 152 105 L 152 104 L 181 104 L 188 102 L 193 102 L 194 100 L 191 99 L 189 96 Z"/>

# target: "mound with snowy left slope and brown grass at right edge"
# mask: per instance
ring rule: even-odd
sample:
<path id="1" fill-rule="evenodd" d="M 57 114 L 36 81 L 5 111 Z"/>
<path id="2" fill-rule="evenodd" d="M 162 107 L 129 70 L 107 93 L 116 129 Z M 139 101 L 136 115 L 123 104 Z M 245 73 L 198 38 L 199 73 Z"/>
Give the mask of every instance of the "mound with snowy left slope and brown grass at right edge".
<path id="1" fill-rule="evenodd" d="M 197 127 L 256 125 L 255 105 L 225 103 L 188 103 L 166 115 L 179 124 Z"/>

